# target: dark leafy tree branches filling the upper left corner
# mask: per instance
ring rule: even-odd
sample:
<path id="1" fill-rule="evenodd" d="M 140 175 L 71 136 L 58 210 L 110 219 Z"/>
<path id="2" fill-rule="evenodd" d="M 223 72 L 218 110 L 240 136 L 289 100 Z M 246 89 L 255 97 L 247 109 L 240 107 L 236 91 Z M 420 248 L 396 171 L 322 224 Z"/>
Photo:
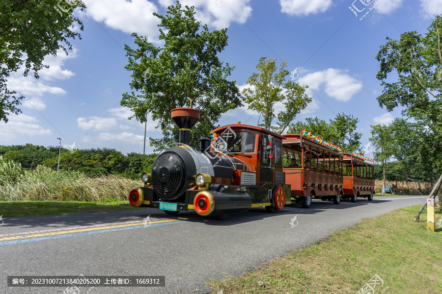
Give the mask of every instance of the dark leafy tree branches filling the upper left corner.
<path id="1" fill-rule="evenodd" d="M 73 29 L 77 23 L 81 30 L 83 24 L 74 17 L 71 9 L 85 8 L 80 0 L 13 0 L 0 1 L 0 121 L 7 123 L 6 115 L 18 114 L 23 96 L 18 97 L 14 88 L 8 87 L 10 73 L 17 72 L 25 64 L 24 75 L 49 66 L 43 65 L 43 58 L 57 49 L 72 49 L 70 38 L 80 38 Z M 63 13 L 64 12 L 64 13 Z"/>

